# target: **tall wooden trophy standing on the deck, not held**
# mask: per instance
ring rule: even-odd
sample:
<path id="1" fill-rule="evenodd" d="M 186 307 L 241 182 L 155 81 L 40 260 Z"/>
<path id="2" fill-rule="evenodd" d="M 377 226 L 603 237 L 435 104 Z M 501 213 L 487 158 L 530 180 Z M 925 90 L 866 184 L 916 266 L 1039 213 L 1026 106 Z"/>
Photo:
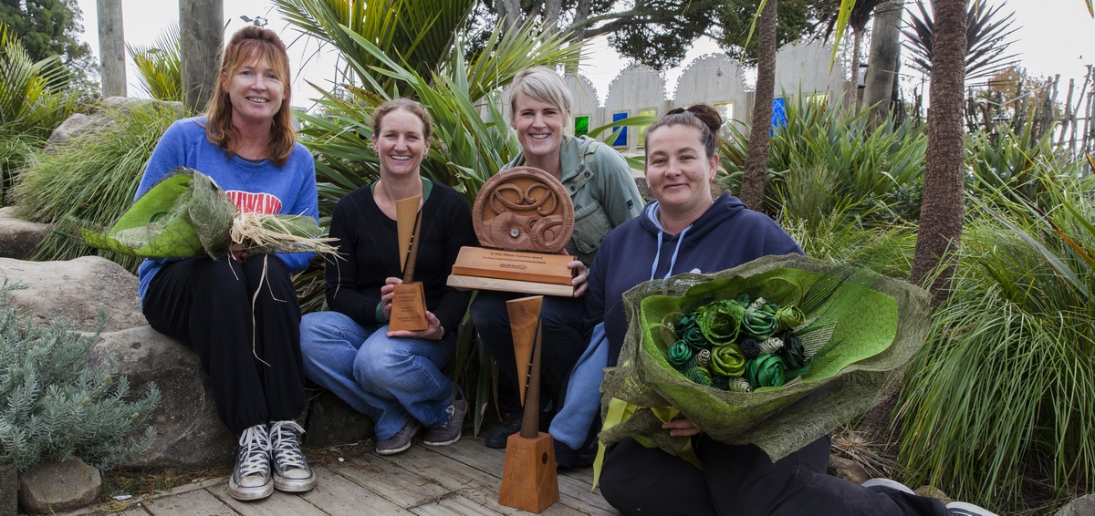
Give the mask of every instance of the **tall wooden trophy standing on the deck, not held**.
<path id="1" fill-rule="evenodd" d="M 506 442 L 506 465 L 502 472 L 498 503 L 539 513 L 558 501 L 555 447 L 551 434 L 540 432 L 540 305 L 543 296 L 506 302 L 514 332 L 517 376 L 525 418 L 521 431 Z"/>

